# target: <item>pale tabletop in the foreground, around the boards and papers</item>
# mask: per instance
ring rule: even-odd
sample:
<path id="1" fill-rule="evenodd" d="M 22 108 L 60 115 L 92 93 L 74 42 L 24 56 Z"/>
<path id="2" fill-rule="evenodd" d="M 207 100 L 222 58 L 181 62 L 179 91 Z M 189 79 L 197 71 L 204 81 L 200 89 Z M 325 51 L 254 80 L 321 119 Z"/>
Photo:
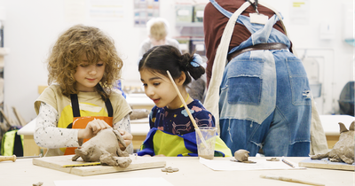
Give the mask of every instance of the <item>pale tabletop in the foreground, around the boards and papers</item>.
<path id="1" fill-rule="evenodd" d="M 59 180 L 88 180 L 112 178 L 138 178 L 162 177 L 173 185 L 272 185 L 296 186 L 295 182 L 283 182 L 260 178 L 261 174 L 290 177 L 308 182 L 318 182 L 327 186 L 353 186 L 355 174 L 353 171 L 306 168 L 295 170 L 247 170 L 247 171 L 214 171 L 202 165 L 197 157 L 152 157 L 166 161 L 167 167 L 177 167 L 178 172 L 165 173 L 162 168 L 151 168 L 111 174 L 98 174 L 79 176 L 57 171 L 51 168 L 38 167 L 32 164 L 32 159 L 17 159 L 15 162 L 0 162 L 1 185 L 32 185 L 43 182 L 43 186 L 55 185 L 53 181 Z M 233 158 L 215 158 L 229 161 Z M 250 157 L 253 159 L 266 159 L 265 157 Z M 288 157 L 292 162 L 298 163 L 306 157 Z"/>

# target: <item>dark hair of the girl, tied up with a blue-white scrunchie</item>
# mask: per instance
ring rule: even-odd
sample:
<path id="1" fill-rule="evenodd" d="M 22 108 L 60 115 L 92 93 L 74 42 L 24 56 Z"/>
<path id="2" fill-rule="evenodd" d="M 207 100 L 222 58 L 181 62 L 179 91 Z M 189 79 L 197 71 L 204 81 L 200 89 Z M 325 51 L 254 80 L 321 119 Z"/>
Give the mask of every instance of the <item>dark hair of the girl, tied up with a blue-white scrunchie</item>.
<path id="1" fill-rule="evenodd" d="M 140 59 L 138 71 L 148 69 L 153 73 L 164 74 L 168 76 L 169 70 L 171 76 L 176 79 L 184 72 L 186 79 L 184 85 L 187 85 L 205 74 L 205 68 L 201 66 L 200 56 L 185 53 L 181 55 L 177 48 L 170 45 L 155 46 L 148 50 Z"/>

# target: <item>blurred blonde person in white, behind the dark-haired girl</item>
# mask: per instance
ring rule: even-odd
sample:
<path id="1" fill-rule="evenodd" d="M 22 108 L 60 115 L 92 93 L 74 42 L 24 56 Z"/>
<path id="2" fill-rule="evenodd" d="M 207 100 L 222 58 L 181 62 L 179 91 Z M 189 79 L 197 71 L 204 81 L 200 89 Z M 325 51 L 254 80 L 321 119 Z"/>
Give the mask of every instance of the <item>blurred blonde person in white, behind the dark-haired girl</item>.
<path id="1" fill-rule="evenodd" d="M 146 51 L 159 45 L 171 45 L 180 50 L 179 43 L 176 39 L 168 37 L 169 23 L 163 18 L 153 18 L 146 22 L 146 31 L 148 38 L 146 38 L 139 47 L 138 56 L 142 57 Z M 180 50 L 181 53 L 181 50 Z"/>

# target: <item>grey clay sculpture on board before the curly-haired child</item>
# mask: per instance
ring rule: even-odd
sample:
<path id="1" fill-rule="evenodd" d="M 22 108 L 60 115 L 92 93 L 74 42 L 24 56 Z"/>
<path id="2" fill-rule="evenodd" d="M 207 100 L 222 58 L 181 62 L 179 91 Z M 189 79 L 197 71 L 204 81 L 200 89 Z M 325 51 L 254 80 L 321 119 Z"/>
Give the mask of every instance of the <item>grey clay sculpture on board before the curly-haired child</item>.
<path id="1" fill-rule="evenodd" d="M 121 151 L 121 143 L 124 147 L 126 144 L 115 128 L 106 128 L 99 131 L 97 136 L 92 137 L 81 148 L 75 149 L 73 161 L 81 157 L 86 162 L 100 162 L 102 165 L 114 167 L 128 167 L 132 160 L 128 157 L 127 151 Z"/>

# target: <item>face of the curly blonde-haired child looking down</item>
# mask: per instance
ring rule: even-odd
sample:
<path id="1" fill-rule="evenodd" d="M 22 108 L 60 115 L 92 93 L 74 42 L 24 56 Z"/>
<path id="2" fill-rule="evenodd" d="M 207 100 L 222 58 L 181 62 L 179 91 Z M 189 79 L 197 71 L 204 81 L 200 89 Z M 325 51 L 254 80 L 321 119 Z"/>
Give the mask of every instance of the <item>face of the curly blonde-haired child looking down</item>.
<path id="1" fill-rule="evenodd" d="M 76 67 L 74 74 L 76 89 L 83 92 L 95 91 L 95 86 L 101 81 L 105 73 L 105 63 L 99 61 L 97 64 L 89 64 L 86 58 L 83 58 Z"/>

